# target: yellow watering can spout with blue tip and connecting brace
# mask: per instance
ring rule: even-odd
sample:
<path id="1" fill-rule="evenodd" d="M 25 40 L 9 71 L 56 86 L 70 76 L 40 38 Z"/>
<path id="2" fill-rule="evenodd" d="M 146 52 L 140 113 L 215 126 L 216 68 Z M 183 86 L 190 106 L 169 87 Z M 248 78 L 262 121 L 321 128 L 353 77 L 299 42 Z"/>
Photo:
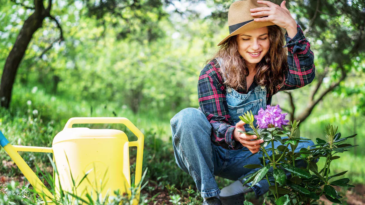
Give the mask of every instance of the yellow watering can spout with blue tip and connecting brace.
<path id="1" fill-rule="evenodd" d="M 20 171 L 28 179 L 29 183 L 33 186 L 35 191 L 40 193 L 43 200 L 47 201 L 48 204 L 54 198 L 51 192 L 46 188 L 42 181 L 37 175 L 30 169 L 24 159 L 19 155 L 18 151 L 38 151 L 38 152 L 52 152 L 52 148 L 47 147 L 29 147 L 29 146 L 13 146 L 5 138 L 3 133 L 0 131 L 0 145 L 9 154 L 15 164 L 19 167 Z M 43 195 L 43 196 L 42 196 Z"/>

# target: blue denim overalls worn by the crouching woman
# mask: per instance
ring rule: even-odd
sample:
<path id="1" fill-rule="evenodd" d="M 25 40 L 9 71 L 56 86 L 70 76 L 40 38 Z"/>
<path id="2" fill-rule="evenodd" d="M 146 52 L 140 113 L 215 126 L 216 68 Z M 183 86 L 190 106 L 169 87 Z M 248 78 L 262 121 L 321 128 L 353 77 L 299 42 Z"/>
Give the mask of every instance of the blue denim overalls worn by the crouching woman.
<path id="1" fill-rule="evenodd" d="M 253 115 L 257 115 L 260 108 L 265 109 L 266 87 L 256 86 L 247 94 L 227 87 L 226 100 L 231 122 L 235 125 L 239 121 L 238 116 L 243 113 L 251 110 Z M 202 197 L 213 197 L 220 193 L 215 176 L 238 180 L 258 170 L 246 169 L 243 166 L 261 164 L 258 158 L 262 155 L 256 153 L 247 158 L 252 153 L 246 147 L 241 150 L 227 150 L 213 144 L 210 138 L 212 126 L 199 109 L 183 109 L 170 120 L 170 124 L 176 163 L 180 169 L 191 175 Z M 246 131 L 251 130 L 248 125 L 244 127 Z M 295 151 L 299 152 L 300 148 L 313 144 L 312 141 L 301 143 Z M 274 147 L 279 145 L 279 142 L 274 143 Z M 270 147 L 271 144 L 266 148 Z M 271 151 L 268 151 L 268 154 L 271 155 Z M 269 184 L 266 180 L 261 180 L 253 186 L 253 190 L 256 196 L 260 196 L 269 190 Z"/>

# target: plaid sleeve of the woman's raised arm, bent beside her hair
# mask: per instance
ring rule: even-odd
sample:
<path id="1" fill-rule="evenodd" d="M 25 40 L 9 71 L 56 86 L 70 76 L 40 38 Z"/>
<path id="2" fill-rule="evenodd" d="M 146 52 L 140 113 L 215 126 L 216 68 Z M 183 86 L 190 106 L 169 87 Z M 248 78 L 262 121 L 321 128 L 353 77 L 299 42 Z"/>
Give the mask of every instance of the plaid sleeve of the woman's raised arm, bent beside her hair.
<path id="1" fill-rule="evenodd" d="M 288 47 L 288 69 L 284 85 L 279 91 L 301 88 L 310 84 L 315 77 L 314 54 L 300 26 L 297 25 L 297 34 L 293 38 L 287 32 L 285 40 L 287 43 L 284 47 Z"/>

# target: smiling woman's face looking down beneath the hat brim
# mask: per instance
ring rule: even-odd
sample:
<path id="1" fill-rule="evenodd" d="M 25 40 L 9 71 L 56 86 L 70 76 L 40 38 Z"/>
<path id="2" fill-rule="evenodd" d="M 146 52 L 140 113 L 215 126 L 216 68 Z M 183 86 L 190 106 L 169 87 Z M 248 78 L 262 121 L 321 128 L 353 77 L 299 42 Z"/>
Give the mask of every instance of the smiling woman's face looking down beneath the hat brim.
<path id="1" fill-rule="evenodd" d="M 257 28 L 238 34 L 238 53 L 247 66 L 255 66 L 268 52 L 270 47 L 268 27 Z"/>

